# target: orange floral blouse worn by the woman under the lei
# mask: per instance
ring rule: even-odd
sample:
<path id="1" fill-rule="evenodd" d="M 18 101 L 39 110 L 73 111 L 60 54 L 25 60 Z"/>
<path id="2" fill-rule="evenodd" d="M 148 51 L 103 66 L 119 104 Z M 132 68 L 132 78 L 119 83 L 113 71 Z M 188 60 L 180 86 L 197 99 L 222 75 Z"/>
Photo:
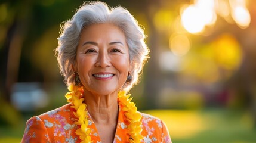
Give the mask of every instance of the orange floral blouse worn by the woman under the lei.
<path id="1" fill-rule="evenodd" d="M 73 115 L 74 111 L 73 108 L 70 108 L 70 104 L 66 104 L 55 110 L 30 118 L 26 123 L 26 129 L 21 142 L 81 142 L 79 136 L 75 134 L 79 126 L 74 124 L 76 119 Z M 162 120 L 144 113 L 141 113 L 141 115 L 143 129 L 141 135 L 144 136 L 141 142 L 171 142 L 168 129 Z M 127 123 L 124 119 L 124 113 L 122 110 L 119 110 L 114 143 L 128 141 Z M 88 128 L 92 129 L 91 140 L 94 143 L 101 143 L 100 136 L 98 136 L 96 126 L 90 114 Z"/>

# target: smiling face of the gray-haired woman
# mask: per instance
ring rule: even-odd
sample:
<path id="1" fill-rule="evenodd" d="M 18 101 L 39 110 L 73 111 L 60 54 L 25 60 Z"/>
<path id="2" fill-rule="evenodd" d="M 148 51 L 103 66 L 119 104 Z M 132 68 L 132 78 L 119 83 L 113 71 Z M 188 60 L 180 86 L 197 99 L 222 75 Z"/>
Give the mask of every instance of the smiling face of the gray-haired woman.
<path id="1" fill-rule="evenodd" d="M 113 24 L 91 24 L 81 33 L 76 69 L 84 90 L 108 95 L 122 88 L 129 71 L 125 35 Z"/>

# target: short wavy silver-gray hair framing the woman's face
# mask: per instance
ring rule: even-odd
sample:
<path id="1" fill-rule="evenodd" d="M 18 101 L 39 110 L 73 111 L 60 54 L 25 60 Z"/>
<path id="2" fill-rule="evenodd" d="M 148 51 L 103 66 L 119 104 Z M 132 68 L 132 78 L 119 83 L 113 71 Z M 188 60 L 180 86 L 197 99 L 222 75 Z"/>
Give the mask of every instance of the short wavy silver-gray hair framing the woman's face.
<path id="1" fill-rule="evenodd" d="M 76 10 L 71 20 L 61 24 L 58 47 L 55 50 L 60 73 L 64 76 L 67 85 L 74 83 L 72 66 L 75 65 L 76 51 L 82 29 L 90 24 L 100 23 L 114 24 L 124 32 L 129 48 L 132 80 L 125 83 L 122 90 L 129 91 L 138 82 L 138 77 L 148 58 L 149 49 L 144 42 L 146 38 L 144 29 L 129 11 L 121 6 L 111 8 L 100 1 L 84 3 Z"/>

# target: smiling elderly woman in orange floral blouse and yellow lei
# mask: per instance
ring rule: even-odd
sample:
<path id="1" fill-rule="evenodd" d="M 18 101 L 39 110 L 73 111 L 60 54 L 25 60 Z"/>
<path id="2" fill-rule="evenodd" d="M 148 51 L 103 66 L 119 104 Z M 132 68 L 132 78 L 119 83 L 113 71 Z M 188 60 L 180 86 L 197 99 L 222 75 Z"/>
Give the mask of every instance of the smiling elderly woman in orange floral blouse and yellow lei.
<path id="1" fill-rule="evenodd" d="M 134 17 L 90 2 L 61 28 L 56 54 L 69 104 L 29 119 L 21 142 L 171 142 L 162 120 L 126 95 L 149 52 Z"/>

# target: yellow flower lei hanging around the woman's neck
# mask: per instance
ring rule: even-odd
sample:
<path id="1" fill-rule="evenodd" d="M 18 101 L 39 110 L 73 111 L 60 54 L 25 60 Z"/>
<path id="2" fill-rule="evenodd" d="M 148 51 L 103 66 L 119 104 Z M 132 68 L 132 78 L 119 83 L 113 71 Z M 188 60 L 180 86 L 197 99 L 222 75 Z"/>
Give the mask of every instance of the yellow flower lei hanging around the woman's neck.
<path id="1" fill-rule="evenodd" d="M 68 87 L 70 92 L 67 92 L 65 97 L 67 102 L 70 102 L 76 112 L 74 112 L 76 119 L 75 124 L 81 126 L 81 128 L 76 130 L 76 135 L 81 139 L 81 143 L 91 143 L 91 129 L 88 128 L 88 114 L 86 112 L 87 105 L 83 103 L 83 93 L 84 89 L 75 85 L 70 85 Z M 131 102 L 132 98 L 129 98 L 131 94 L 125 95 L 125 91 L 118 92 L 118 104 L 125 114 L 125 120 L 129 123 L 127 129 L 129 130 L 129 142 L 136 143 L 143 139 L 140 134 L 141 129 L 141 114 L 137 112 L 137 107 L 134 102 Z"/>

